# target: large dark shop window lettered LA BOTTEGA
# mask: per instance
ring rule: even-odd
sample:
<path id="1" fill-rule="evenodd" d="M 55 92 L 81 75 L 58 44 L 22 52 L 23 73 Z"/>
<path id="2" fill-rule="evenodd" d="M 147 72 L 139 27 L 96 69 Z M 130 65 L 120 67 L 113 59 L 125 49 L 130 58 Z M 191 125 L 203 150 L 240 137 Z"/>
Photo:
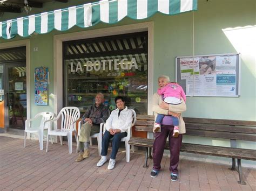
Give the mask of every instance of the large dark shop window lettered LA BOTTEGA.
<path id="1" fill-rule="evenodd" d="M 65 106 L 84 112 L 103 93 L 110 110 L 124 96 L 137 114 L 147 114 L 147 32 L 66 41 L 63 57 Z"/>

